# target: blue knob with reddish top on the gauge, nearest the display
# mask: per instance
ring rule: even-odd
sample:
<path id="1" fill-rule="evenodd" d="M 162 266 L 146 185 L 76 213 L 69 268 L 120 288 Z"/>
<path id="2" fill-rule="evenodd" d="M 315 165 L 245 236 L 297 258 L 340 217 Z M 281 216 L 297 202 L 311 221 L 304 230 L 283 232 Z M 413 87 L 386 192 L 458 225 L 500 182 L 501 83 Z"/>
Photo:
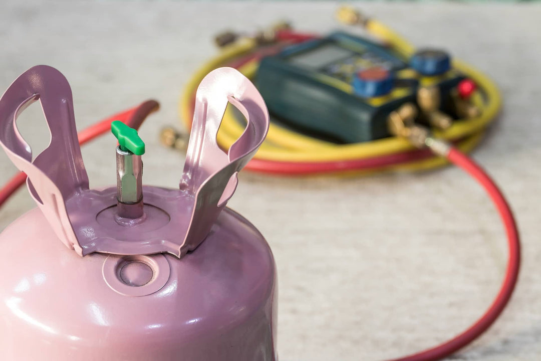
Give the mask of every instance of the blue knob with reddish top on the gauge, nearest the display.
<path id="1" fill-rule="evenodd" d="M 373 98 L 390 93 L 393 89 L 391 72 L 382 67 L 358 71 L 353 77 L 353 91 L 364 98 Z"/>

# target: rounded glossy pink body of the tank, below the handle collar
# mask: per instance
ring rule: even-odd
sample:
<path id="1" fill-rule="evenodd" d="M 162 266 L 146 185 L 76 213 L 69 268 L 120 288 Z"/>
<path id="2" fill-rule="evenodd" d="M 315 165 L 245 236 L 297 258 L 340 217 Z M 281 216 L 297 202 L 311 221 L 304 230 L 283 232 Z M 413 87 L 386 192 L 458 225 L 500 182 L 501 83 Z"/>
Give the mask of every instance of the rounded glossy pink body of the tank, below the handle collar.
<path id="1" fill-rule="evenodd" d="M 170 274 L 146 296 L 105 281 L 107 259 L 122 256 L 80 257 L 38 209 L 0 234 L 0 253 L 2 361 L 275 360 L 272 253 L 227 208 L 194 252 L 149 256 L 165 258 Z"/>

